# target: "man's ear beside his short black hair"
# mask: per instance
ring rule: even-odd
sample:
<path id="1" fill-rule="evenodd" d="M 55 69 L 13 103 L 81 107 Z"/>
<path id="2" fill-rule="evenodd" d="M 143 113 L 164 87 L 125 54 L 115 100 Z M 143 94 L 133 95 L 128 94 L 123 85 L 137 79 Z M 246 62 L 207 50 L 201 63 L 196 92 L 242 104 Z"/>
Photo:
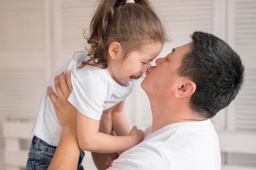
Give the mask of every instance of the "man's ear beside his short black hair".
<path id="1" fill-rule="evenodd" d="M 177 88 L 177 91 L 175 92 L 175 96 L 177 98 L 183 98 L 192 95 L 195 92 L 196 85 L 195 82 L 186 79 L 180 87 Z"/>

